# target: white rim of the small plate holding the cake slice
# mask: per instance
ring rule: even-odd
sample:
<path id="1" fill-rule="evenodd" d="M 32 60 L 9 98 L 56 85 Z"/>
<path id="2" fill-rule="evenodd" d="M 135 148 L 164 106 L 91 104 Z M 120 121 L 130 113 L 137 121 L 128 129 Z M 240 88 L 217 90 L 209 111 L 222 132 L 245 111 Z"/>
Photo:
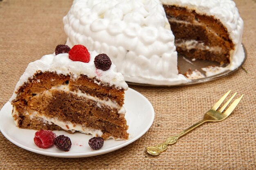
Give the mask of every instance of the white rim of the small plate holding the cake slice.
<path id="1" fill-rule="evenodd" d="M 146 126 L 146 128 L 144 128 L 144 130 L 141 131 L 141 133 L 139 135 L 137 135 L 136 137 L 132 137 L 131 139 L 128 139 L 126 142 L 118 145 L 118 146 L 114 146 L 114 147 L 111 147 L 111 148 L 107 148 L 105 150 L 95 150 L 95 151 L 92 151 L 93 153 L 91 152 L 85 152 L 85 153 L 55 153 L 55 152 L 46 152 L 44 150 L 37 150 L 37 149 L 34 149 L 34 148 L 30 148 L 30 147 L 27 147 L 27 146 L 24 146 L 22 144 L 20 144 L 19 142 L 15 141 L 14 139 L 11 138 L 11 136 L 9 136 L 4 130 L 3 130 L 3 127 L 2 125 L 0 124 L 0 131 L 1 133 L 4 135 L 4 137 L 9 140 L 11 143 L 15 144 L 16 146 L 22 148 L 22 149 L 25 149 L 25 150 L 28 150 L 30 152 L 34 152 L 34 153 L 37 153 L 37 154 L 40 154 L 40 155 L 46 155 L 46 156 L 51 156 L 51 157 L 63 157 L 63 158 L 78 158 L 78 157 L 92 157 L 92 156 L 97 156 L 97 155 L 103 155 L 103 154 L 106 154 L 106 153 L 109 153 L 109 152 L 112 152 L 112 151 L 115 151 L 115 150 L 118 150 L 120 148 L 123 148 L 129 144 L 131 144 L 132 142 L 136 141 L 137 139 L 139 139 L 140 137 L 142 137 L 148 130 L 149 128 L 152 126 L 153 124 L 153 121 L 155 119 L 155 110 L 152 106 L 152 104 L 149 102 L 149 100 L 144 96 L 142 95 L 141 93 L 135 91 L 134 89 L 132 88 L 128 88 L 128 90 L 132 91 L 133 93 L 135 93 L 136 95 L 140 95 L 141 97 L 143 97 L 144 99 L 146 99 L 145 101 L 149 104 L 150 106 L 150 115 L 151 115 L 151 119 L 149 120 L 149 124 Z M 127 91 L 128 91 L 127 90 Z M 4 113 L 4 109 L 7 109 L 6 107 L 9 107 L 8 105 L 11 105 L 11 103 L 8 101 L 7 103 L 4 104 L 4 106 L 1 108 L 0 110 L 0 121 L 1 121 L 1 117 L 3 117 L 3 113 Z M 12 107 L 12 106 L 11 106 Z M 18 127 L 17 127 L 18 128 Z"/>

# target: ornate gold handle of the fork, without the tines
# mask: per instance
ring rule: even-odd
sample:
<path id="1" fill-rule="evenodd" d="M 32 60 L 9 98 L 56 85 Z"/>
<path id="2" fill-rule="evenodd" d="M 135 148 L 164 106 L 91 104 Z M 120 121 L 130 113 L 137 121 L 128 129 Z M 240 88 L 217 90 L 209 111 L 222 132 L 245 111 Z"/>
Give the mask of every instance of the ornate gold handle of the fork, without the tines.
<path id="1" fill-rule="evenodd" d="M 201 120 L 198 121 L 198 123 L 194 124 L 193 126 L 187 128 L 186 130 L 183 130 L 182 132 L 180 132 L 179 134 L 175 135 L 175 136 L 171 136 L 168 137 L 166 139 L 166 141 L 163 144 L 159 144 L 159 145 L 155 145 L 155 146 L 148 146 L 146 147 L 147 152 L 150 155 L 160 155 L 161 152 L 164 152 L 167 149 L 168 145 L 173 145 L 177 142 L 177 140 L 182 137 L 183 135 L 187 134 L 188 132 L 190 132 L 191 130 L 193 130 L 194 128 L 200 126 L 201 124 L 203 124 L 204 122 L 206 122 L 205 120 Z"/>

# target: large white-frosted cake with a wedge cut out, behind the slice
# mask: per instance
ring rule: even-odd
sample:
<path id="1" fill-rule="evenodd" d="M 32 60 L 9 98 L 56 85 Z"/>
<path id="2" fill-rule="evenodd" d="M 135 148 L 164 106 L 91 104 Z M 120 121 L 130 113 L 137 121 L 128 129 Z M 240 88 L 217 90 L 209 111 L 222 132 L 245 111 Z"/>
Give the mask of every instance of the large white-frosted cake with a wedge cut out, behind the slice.
<path id="1" fill-rule="evenodd" d="M 63 18 L 67 44 L 106 53 L 126 81 L 175 85 L 177 53 L 216 61 L 207 75 L 242 63 L 243 20 L 232 0 L 74 0 Z"/>

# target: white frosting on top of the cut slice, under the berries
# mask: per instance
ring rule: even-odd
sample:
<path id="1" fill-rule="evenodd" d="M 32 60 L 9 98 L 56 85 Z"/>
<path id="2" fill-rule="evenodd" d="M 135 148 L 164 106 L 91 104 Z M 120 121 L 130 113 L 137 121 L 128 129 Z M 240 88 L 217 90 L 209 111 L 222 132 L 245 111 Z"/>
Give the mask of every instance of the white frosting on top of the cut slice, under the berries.
<path id="1" fill-rule="evenodd" d="M 102 71 L 95 67 L 94 58 L 98 54 L 99 53 L 96 51 L 90 52 L 90 62 L 88 63 L 72 61 L 69 59 L 68 53 L 44 55 L 40 60 L 29 63 L 25 72 L 16 84 L 16 88 L 9 101 L 11 102 L 16 98 L 17 94 L 15 92 L 18 88 L 27 82 L 30 77 L 33 77 L 34 73 L 37 71 L 49 71 L 63 75 L 71 75 L 72 79 L 76 79 L 83 74 L 91 78 L 96 77 L 102 83 L 108 83 L 110 86 L 115 85 L 117 88 L 124 88 L 127 90 L 128 85 L 124 81 L 123 75 L 121 73 L 117 73 L 115 64 L 112 63 L 110 69 L 107 71 Z"/>

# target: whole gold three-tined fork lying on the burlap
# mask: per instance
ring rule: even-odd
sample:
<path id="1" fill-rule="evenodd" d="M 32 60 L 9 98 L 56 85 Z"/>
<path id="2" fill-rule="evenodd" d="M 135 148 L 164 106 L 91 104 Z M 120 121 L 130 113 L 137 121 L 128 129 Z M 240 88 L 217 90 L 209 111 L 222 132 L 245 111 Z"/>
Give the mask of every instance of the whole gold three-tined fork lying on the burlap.
<path id="1" fill-rule="evenodd" d="M 182 137 L 186 133 L 190 132 L 194 128 L 200 126 L 201 124 L 208 122 L 208 121 L 215 122 L 215 121 L 222 121 L 222 120 L 226 119 L 233 112 L 233 110 L 236 108 L 236 106 L 239 104 L 240 100 L 243 97 L 243 95 L 241 95 L 238 99 L 235 99 L 235 101 L 227 108 L 227 110 L 224 113 L 222 113 L 223 110 L 227 107 L 227 105 L 231 102 L 231 100 L 236 95 L 236 93 L 234 93 L 234 95 L 232 95 L 232 97 L 230 97 L 230 99 L 219 110 L 217 110 L 220 107 L 220 105 L 222 104 L 222 102 L 224 102 L 224 100 L 227 98 L 227 96 L 229 95 L 230 92 L 231 92 L 231 90 L 228 91 L 225 95 L 223 95 L 219 99 L 219 101 L 216 104 L 214 104 L 214 106 L 209 111 L 207 111 L 207 113 L 204 114 L 203 119 L 198 121 L 198 123 L 187 128 L 186 130 L 183 130 L 182 132 L 180 132 L 179 134 L 177 134 L 175 136 L 169 137 L 168 139 L 166 139 L 166 141 L 163 144 L 146 147 L 147 152 L 150 155 L 154 155 L 154 156 L 160 155 L 161 152 L 163 152 L 167 149 L 168 145 L 175 144 L 180 137 Z"/>

